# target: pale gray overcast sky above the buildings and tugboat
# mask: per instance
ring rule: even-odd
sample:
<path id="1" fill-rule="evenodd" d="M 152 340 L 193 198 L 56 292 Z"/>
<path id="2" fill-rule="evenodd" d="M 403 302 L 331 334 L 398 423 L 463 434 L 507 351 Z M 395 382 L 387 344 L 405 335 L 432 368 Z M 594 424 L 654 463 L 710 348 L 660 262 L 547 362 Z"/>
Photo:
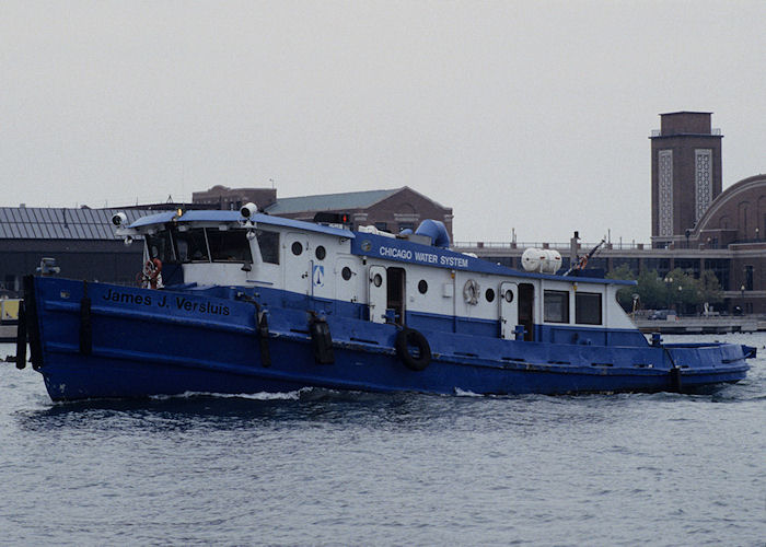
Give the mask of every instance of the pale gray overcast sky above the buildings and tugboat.
<path id="1" fill-rule="evenodd" d="M 408 185 L 459 241 L 648 242 L 660 113 L 766 173 L 766 2 L 0 0 L 0 205 Z"/>

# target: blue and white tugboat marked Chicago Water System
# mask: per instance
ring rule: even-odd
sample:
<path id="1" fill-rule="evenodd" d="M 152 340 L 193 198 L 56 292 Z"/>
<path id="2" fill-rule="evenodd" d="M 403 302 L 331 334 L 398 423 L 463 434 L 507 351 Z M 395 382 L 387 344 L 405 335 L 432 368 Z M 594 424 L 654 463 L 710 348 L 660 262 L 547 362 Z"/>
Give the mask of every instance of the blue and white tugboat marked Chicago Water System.
<path id="1" fill-rule="evenodd" d="M 340 221 L 341 219 L 324 219 Z M 142 287 L 27 277 L 26 345 L 54 400 L 303 387 L 432 394 L 696 391 L 745 377 L 753 348 L 651 342 L 616 302 L 626 281 L 524 270 L 413 234 L 241 211 L 175 211 L 142 238 Z M 582 274 L 582 272 L 580 272 Z"/>

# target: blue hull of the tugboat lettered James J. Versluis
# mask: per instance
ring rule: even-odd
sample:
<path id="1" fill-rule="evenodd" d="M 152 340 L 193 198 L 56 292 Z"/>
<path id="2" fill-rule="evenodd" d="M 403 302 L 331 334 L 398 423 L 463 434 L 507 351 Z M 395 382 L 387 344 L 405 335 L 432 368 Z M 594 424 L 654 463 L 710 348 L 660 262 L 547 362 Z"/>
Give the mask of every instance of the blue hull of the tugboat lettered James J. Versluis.
<path id="1" fill-rule="evenodd" d="M 736 345 L 543 344 L 421 329 L 421 371 L 395 349 L 397 327 L 327 315 L 333 362 L 320 364 L 305 311 L 252 301 L 28 278 L 32 361 L 54 400 L 302 387 L 433 394 L 695 391 L 745 377 Z M 232 294 L 235 292 L 232 291 Z"/>

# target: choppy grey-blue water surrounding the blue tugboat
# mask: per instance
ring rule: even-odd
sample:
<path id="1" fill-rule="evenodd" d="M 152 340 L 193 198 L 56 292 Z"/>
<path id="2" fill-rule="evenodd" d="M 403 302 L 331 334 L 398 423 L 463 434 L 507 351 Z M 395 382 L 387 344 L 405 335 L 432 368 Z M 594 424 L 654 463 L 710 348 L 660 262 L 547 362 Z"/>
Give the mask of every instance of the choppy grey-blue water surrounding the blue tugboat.
<path id="1" fill-rule="evenodd" d="M 0 544 L 763 546 L 766 335 L 716 338 L 762 357 L 705 396 L 55 405 L 3 365 Z"/>

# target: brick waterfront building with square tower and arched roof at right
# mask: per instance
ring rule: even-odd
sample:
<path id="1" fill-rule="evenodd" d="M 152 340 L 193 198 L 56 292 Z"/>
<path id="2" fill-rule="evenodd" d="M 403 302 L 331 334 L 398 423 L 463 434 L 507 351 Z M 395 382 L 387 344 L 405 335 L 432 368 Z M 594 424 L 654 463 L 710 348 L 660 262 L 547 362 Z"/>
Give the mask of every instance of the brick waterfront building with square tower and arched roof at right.
<path id="1" fill-rule="evenodd" d="M 766 313 L 766 174 L 722 190 L 721 131 L 710 113 L 661 114 L 651 133 L 651 244 L 607 242 L 589 261 L 606 272 L 625 265 L 636 275 L 657 270 L 664 278 L 681 268 L 699 278 L 716 274 L 724 311 Z M 577 226 L 573 226 L 577 228 Z M 521 267 L 529 246 L 554 248 L 569 267 L 570 243 L 462 242 L 475 253 L 507 266 Z M 581 244 L 587 253 L 593 244 Z"/>

